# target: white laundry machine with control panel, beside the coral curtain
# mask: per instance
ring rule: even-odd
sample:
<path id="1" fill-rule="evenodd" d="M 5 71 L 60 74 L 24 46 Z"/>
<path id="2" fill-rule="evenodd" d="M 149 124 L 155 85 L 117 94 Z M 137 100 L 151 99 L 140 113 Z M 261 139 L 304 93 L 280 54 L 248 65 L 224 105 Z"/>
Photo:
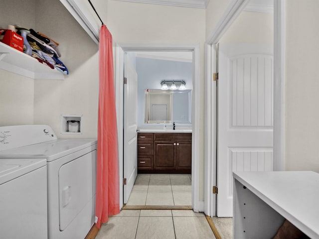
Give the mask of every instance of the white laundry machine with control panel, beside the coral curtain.
<path id="1" fill-rule="evenodd" d="M 48 125 L 0 127 L 0 160 L 44 158 L 49 239 L 84 239 L 95 222 L 95 139 L 57 139 Z"/>

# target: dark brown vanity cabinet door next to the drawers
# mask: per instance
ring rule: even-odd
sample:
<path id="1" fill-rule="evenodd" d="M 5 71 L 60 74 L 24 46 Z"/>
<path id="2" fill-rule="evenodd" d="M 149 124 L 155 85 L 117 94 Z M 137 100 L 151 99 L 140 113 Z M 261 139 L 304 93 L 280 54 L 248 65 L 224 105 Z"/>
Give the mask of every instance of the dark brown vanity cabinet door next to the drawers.
<path id="1" fill-rule="evenodd" d="M 154 169 L 174 169 L 174 143 L 173 141 L 154 142 Z"/>

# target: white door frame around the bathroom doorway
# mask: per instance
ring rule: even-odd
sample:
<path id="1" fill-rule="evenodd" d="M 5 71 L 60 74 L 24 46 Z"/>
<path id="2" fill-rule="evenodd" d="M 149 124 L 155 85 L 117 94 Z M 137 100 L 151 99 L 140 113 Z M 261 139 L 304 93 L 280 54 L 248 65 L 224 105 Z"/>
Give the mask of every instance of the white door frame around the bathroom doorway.
<path id="1" fill-rule="evenodd" d="M 193 52 L 192 81 L 192 209 L 199 205 L 199 45 L 198 44 L 140 44 L 117 43 L 115 61 L 115 94 L 119 138 L 120 208 L 123 208 L 123 53 L 124 51 L 191 51 Z M 201 210 L 202 211 L 202 210 Z"/>

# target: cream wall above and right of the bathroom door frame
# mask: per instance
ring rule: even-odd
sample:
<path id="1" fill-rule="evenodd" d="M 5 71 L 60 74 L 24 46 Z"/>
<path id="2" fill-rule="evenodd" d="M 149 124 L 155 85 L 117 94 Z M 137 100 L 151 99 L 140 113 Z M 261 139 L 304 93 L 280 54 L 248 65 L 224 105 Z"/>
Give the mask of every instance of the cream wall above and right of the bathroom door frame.
<path id="1" fill-rule="evenodd" d="M 181 43 L 200 46 L 200 92 L 204 86 L 205 9 L 108 0 L 113 43 Z M 204 95 L 200 95 L 199 200 L 204 199 Z"/>

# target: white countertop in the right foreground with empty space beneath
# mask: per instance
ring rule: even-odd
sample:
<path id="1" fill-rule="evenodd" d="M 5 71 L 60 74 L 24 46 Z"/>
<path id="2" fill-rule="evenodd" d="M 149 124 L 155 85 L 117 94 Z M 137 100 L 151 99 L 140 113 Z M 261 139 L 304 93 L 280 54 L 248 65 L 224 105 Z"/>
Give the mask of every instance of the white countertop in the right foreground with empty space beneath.
<path id="1" fill-rule="evenodd" d="M 234 172 L 233 176 L 310 238 L 319 238 L 318 173 Z"/>

